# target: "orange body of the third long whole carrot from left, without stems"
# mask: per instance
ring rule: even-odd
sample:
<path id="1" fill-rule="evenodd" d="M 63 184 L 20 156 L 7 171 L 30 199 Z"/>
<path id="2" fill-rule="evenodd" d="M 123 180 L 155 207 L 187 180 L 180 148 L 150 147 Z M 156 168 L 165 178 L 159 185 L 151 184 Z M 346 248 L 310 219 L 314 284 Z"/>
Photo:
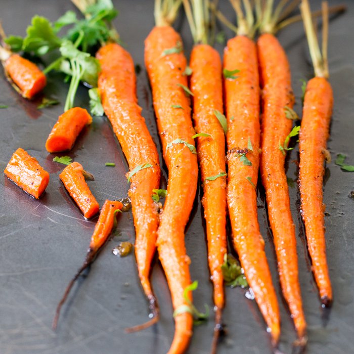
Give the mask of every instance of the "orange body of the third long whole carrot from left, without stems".
<path id="1" fill-rule="evenodd" d="M 206 219 L 208 261 L 214 286 L 214 304 L 225 303 L 224 278 L 221 266 L 226 253 L 226 177 L 205 181 L 208 176 L 225 172 L 225 133 L 214 110 L 223 112 L 222 63 L 211 46 L 194 46 L 191 54 L 191 91 L 196 132 L 211 137 L 198 138 L 201 180 L 204 181 L 202 204 Z"/>

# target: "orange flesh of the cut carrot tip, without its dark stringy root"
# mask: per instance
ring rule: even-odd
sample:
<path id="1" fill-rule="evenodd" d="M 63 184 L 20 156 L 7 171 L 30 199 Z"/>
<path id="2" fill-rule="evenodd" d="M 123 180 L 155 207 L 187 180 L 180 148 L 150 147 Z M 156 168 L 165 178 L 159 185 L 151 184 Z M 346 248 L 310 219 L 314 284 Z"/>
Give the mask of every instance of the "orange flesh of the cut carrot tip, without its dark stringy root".
<path id="1" fill-rule="evenodd" d="M 90 251 L 98 251 L 112 232 L 116 211 L 121 210 L 123 204 L 117 200 L 106 200 L 102 206 L 94 233 L 91 237 Z M 119 212 L 119 211 L 118 211 Z"/>

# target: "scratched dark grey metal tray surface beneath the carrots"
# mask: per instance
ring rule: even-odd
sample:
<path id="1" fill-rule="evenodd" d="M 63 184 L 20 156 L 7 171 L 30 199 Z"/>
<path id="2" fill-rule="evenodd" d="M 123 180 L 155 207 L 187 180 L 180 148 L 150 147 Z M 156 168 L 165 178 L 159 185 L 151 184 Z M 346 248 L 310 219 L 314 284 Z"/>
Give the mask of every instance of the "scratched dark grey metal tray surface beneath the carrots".
<path id="1" fill-rule="evenodd" d="M 135 62 L 142 67 L 144 38 L 153 26 L 152 3 L 143 0 L 116 2 L 121 13 L 115 21 L 116 26 Z M 319 2 L 312 3 L 319 5 Z M 339 2 L 332 0 L 330 3 L 334 5 Z M 332 156 L 345 153 L 348 161 L 354 164 L 354 3 L 349 0 L 341 3 L 348 6 L 347 13 L 330 23 L 330 81 L 335 106 L 328 147 Z M 41 14 L 55 20 L 64 11 L 73 9 L 69 1 L 2 0 L 1 4 L 1 18 L 6 31 L 21 35 L 33 15 Z M 232 18 L 228 3 L 224 0 L 221 5 Z M 189 55 L 192 43 L 186 22 L 178 21 L 176 27 L 182 30 Z M 230 37 L 231 33 L 227 33 Z M 300 102 L 299 79 L 309 78 L 312 73 L 301 25 L 284 30 L 280 33 L 280 40 L 289 56 L 293 87 L 297 102 Z M 220 45 L 217 48 L 222 50 Z M 51 180 L 46 195 L 37 201 L 4 176 L 0 179 L 0 352 L 162 354 L 171 342 L 173 321 L 168 288 L 157 262 L 153 267 L 152 282 L 161 308 L 160 322 L 136 334 L 125 334 L 123 331 L 126 326 L 147 320 L 147 304 L 138 282 L 134 256 L 120 259 L 111 252 L 121 240 L 134 241 L 130 214 L 122 215 L 118 226 L 120 236 L 115 236 L 107 244 L 89 276 L 81 278 L 74 287 L 63 308 L 57 332 L 51 330 L 57 302 L 81 264 L 94 228 L 93 222 L 82 218 L 59 183 L 58 174 L 63 166 L 52 162 L 53 156 L 45 151 L 46 138 L 62 112 L 66 90 L 67 84 L 63 83 L 62 76 L 50 76 L 45 94 L 58 98 L 62 104 L 38 111 L 35 102 L 19 97 L 1 75 L 0 102 L 9 105 L 9 108 L 0 110 L 0 168 L 4 170 L 12 153 L 22 147 L 51 173 Z M 138 96 L 147 125 L 159 146 L 145 70 L 138 75 Z M 86 89 L 82 86 L 79 87 L 76 103 L 87 106 Z M 300 104 L 295 109 L 300 113 Z M 126 162 L 106 118 L 96 117 L 69 155 L 96 176 L 90 187 L 101 205 L 106 198 L 126 195 Z M 295 149 L 288 159 L 287 175 L 293 179 L 297 174 L 297 157 Z M 104 162 L 115 162 L 116 167 L 105 167 Z M 322 309 L 318 300 L 303 226 L 299 221 L 298 190 L 296 185 L 290 188 L 301 291 L 308 323 L 308 354 L 349 353 L 354 350 L 354 200 L 348 197 L 354 189 L 354 174 L 342 172 L 332 162 L 328 165 L 326 176 L 327 254 L 334 289 L 334 304 L 330 310 Z M 212 288 L 208 280 L 199 199 L 200 190 L 187 228 L 186 245 L 192 260 L 192 279 L 198 279 L 200 284 L 194 294 L 195 303 L 202 308 L 204 303 L 212 307 Z M 281 307 L 280 349 L 290 353 L 295 334 L 280 294 L 262 190 L 258 204 L 260 228 Z M 218 352 L 270 353 L 270 338 L 254 300 L 247 299 L 242 289 L 228 288 L 226 295 L 224 322 L 228 335 L 220 342 Z M 208 353 L 212 329 L 212 317 L 206 325 L 196 327 L 188 353 Z"/>

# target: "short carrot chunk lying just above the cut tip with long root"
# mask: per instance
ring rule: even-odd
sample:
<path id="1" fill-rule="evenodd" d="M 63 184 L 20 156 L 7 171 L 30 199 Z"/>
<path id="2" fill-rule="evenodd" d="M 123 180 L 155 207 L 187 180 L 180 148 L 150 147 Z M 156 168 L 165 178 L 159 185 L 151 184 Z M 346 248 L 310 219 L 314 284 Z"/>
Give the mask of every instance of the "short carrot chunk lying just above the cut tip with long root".
<path id="1" fill-rule="evenodd" d="M 83 176 L 83 167 L 80 163 L 70 163 L 59 174 L 59 178 L 84 217 L 89 219 L 99 212 L 100 205 L 91 193 L 89 186 L 87 186 Z"/>

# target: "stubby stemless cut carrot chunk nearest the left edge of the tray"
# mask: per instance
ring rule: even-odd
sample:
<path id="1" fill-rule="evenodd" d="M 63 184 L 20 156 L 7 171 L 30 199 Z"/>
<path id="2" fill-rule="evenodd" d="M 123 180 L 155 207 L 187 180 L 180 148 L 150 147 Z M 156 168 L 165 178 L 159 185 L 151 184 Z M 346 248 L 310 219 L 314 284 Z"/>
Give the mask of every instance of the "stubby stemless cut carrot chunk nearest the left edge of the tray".
<path id="1" fill-rule="evenodd" d="M 49 173 L 22 148 L 13 153 L 4 172 L 10 180 L 36 199 L 45 192 L 49 183 Z"/>

